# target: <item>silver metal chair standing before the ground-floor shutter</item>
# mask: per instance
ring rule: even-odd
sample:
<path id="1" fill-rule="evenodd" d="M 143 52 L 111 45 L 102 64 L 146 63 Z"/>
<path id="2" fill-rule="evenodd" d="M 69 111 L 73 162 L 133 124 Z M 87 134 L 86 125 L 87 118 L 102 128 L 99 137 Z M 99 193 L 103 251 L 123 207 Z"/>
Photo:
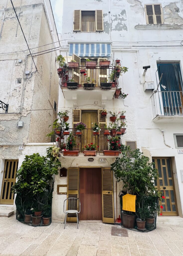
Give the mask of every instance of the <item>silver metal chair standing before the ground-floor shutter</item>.
<path id="1" fill-rule="evenodd" d="M 65 201 L 66 200 L 68 200 L 68 203 L 67 203 L 67 209 L 68 210 L 65 210 Z M 78 198 L 69 197 L 69 198 L 64 200 L 64 213 L 66 214 L 65 219 L 64 219 L 64 229 L 65 229 L 66 219 L 67 219 L 68 213 L 71 213 L 71 214 L 75 213 L 77 215 L 77 228 L 78 228 L 78 224 L 79 224 L 78 213 L 80 212 L 80 210 L 81 210 L 81 203 L 80 203 L 80 200 Z"/>

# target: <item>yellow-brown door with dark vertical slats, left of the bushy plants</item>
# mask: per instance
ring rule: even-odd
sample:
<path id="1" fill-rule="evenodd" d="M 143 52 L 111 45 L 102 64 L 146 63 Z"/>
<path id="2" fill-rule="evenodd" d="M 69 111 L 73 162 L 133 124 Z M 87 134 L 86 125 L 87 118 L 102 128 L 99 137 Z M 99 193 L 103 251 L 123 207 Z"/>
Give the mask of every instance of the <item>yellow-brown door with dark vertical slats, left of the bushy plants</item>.
<path id="1" fill-rule="evenodd" d="M 14 204 L 14 193 L 11 193 L 11 187 L 16 183 L 17 169 L 18 169 L 18 160 L 5 161 L 0 204 L 7 204 L 7 205 Z"/>

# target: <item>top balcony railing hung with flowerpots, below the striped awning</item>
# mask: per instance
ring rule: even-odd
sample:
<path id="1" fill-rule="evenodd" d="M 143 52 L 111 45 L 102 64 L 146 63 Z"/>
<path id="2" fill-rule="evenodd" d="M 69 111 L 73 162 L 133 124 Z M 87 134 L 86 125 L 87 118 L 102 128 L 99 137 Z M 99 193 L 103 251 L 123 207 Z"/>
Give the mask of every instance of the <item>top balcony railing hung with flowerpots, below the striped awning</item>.
<path id="1" fill-rule="evenodd" d="M 82 72 L 82 70 L 86 72 Z M 100 66 L 96 66 L 96 68 L 86 68 L 86 66 L 79 66 L 78 68 L 63 67 L 59 85 L 61 88 L 68 89 L 100 88 L 110 90 L 111 88 L 118 87 L 120 72 L 115 72 L 114 70 L 116 70 L 115 66 L 109 66 L 108 68 Z M 70 79 L 74 79 L 74 82 L 70 83 Z"/>

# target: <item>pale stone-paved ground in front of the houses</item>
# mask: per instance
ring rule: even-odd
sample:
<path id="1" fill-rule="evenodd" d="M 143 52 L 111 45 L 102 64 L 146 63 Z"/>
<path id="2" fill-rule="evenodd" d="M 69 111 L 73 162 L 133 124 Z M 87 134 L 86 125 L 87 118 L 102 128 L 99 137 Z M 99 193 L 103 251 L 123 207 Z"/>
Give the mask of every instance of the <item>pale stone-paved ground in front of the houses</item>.
<path id="1" fill-rule="evenodd" d="M 140 233 L 128 230 L 129 237 L 111 236 L 113 225 L 99 222 L 52 222 L 32 227 L 15 216 L 0 217 L 0 256 L 172 256 L 183 255 L 183 225 L 157 225 Z M 120 226 L 118 226 L 121 228 Z"/>

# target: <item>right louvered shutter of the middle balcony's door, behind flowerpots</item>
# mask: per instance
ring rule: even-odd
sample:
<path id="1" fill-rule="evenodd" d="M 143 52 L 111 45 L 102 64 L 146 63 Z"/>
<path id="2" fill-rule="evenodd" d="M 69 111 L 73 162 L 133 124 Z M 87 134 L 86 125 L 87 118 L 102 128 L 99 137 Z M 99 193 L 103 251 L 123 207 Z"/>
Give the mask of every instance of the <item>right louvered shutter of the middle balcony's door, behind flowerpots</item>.
<path id="1" fill-rule="evenodd" d="M 106 118 L 105 116 L 102 116 L 101 115 L 101 112 L 102 110 L 98 110 L 98 120 L 99 120 L 99 124 L 100 127 L 101 127 L 101 131 L 100 131 L 100 141 L 99 141 L 99 150 L 100 151 L 103 151 L 103 150 L 107 150 L 107 136 L 104 136 L 104 126 L 107 125 L 107 122 L 106 122 Z"/>

